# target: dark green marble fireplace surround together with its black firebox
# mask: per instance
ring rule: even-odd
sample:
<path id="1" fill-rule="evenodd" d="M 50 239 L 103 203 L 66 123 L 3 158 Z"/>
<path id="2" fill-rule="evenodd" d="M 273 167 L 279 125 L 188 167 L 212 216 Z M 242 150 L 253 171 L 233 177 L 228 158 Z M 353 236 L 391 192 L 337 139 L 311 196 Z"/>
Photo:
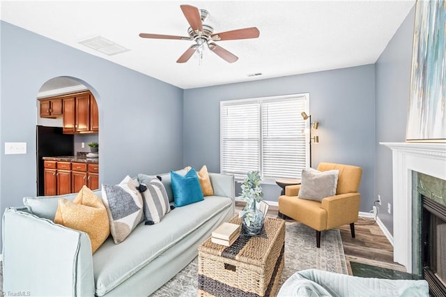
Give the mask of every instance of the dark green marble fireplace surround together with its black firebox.
<path id="1" fill-rule="evenodd" d="M 446 181 L 412 172 L 413 273 L 446 296 Z"/>

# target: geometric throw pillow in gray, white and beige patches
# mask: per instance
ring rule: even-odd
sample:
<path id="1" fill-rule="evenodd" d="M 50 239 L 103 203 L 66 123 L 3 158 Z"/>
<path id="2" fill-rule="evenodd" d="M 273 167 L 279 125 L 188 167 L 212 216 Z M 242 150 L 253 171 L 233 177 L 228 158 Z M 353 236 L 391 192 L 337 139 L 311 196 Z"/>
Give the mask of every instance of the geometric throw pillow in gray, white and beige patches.
<path id="1" fill-rule="evenodd" d="M 141 193 L 130 176 L 118 185 L 102 184 L 102 200 L 109 214 L 110 233 L 118 244 L 144 220 Z"/>

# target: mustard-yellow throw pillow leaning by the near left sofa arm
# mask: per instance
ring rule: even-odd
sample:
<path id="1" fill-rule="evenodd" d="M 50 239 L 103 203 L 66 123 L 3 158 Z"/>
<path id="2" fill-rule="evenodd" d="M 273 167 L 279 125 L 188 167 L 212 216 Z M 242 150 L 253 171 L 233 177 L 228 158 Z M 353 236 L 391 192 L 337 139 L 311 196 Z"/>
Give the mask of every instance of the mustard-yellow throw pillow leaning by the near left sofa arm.
<path id="1" fill-rule="evenodd" d="M 93 254 L 110 234 L 107 209 L 86 185 L 73 201 L 59 199 L 54 222 L 89 234 Z"/>

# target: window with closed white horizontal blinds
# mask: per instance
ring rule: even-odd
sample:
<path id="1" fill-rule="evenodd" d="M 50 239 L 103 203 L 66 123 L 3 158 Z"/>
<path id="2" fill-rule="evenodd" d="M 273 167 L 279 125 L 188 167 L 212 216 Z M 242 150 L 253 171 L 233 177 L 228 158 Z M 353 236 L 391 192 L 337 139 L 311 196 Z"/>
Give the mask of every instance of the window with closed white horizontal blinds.
<path id="1" fill-rule="evenodd" d="M 264 180 L 300 178 L 307 167 L 308 94 L 220 102 L 221 171 Z"/>

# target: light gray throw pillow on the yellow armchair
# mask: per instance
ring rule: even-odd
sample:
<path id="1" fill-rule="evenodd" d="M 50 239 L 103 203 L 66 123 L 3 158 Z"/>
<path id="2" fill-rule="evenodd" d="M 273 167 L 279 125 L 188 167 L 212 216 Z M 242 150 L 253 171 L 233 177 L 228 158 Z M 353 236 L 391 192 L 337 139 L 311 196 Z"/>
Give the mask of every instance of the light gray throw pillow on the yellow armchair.
<path id="1" fill-rule="evenodd" d="M 319 172 L 312 168 L 303 169 L 298 197 L 322 201 L 325 197 L 336 195 L 338 176 L 339 170 L 337 169 L 326 172 Z"/>

